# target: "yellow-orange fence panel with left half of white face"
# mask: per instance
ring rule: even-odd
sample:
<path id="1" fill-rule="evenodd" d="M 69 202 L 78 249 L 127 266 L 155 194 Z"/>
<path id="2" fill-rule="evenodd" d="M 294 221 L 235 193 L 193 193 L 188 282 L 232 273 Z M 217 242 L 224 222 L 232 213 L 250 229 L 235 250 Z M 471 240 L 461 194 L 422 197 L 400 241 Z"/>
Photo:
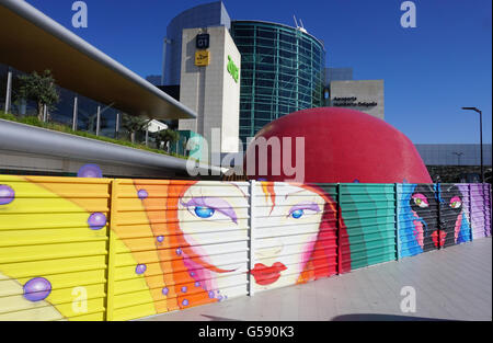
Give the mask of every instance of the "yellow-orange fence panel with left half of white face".
<path id="1" fill-rule="evenodd" d="M 246 295 L 248 183 L 115 183 L 112 320 Z"/>

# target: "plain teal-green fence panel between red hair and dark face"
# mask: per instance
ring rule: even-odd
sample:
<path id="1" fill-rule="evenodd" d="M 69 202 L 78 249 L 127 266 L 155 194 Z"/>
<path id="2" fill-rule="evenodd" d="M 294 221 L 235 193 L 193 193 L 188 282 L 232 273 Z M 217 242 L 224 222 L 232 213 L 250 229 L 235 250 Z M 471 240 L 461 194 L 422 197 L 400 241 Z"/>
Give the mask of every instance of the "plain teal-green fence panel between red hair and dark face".
<path id="1" fill-rule="evenodd" d="M 339 203 L 351 245 L 351 268 L 397 259 L 393 184 L 341 184 Z"/>

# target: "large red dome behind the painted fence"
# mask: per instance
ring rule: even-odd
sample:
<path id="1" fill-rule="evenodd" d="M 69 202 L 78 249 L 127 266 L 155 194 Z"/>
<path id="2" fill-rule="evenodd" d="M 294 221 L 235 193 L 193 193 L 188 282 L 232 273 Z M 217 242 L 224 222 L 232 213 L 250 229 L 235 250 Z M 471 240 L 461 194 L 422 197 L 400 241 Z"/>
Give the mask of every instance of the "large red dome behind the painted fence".
<path id="1" fill-rule="evenodd" d="M 305 137 L 306 183 L 432 183 L 411 140 L 382 119 L 359 111 L 319 107 L 295 112 L 264 126 L 255 136 L 257 137 L 267 140 L 278 137 L 280 151 L 283 137 L 291 137 L 293 162 L 289 165 L 293 167 L 296 167 L 294 137 Z M 249 146 L 245 170 L 248 157 L 252 157 L 252 153 L 254 149 Z M 283 153 L 276 155 L 274 157 L 280 159 L 280 175 L 275 175 L 272 171 L 273 156 L 270 150 L 267 175 L 260 173 L 257 167 L 255 175 L 249 178 L 293 180 L 289 171 L 285 173 L 283 170 Z M 259 156 L 254 160 L 257 164 Z"/>

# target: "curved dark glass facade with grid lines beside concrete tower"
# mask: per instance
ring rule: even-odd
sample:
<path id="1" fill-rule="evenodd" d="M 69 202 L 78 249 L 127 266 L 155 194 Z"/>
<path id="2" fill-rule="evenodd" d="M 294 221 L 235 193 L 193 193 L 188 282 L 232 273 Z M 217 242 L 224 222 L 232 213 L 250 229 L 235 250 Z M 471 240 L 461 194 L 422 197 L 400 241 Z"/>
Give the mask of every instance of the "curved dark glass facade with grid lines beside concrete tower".
<path id="1" fill-rule="evenodd" d="M 299 110 L 323 106 L 325 49 L 298 28 L 232 21 L 241 53 L 240 138 Z"/>

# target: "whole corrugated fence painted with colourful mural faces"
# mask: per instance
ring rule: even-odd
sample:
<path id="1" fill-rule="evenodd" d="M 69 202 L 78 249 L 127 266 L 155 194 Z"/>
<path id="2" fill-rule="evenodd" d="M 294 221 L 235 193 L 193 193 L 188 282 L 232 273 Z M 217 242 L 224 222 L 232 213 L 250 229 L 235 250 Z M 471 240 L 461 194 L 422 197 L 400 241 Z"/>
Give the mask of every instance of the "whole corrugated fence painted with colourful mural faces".
<path id="1" fill-rule="evenodd" d="M 130 320 L 491 236 L 490 184 L 0 175 L 0 320 Z"/>

